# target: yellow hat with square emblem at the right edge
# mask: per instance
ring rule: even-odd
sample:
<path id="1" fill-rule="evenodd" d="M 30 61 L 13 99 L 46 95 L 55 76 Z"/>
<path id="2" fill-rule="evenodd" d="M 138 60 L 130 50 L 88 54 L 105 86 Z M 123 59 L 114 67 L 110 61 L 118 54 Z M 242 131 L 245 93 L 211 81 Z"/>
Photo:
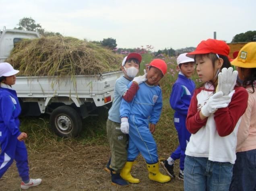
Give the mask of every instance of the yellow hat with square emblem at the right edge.
<path id="1" fill-rule="evenodd" d="M 231 64 L 241 68 L 256 68 L 256 42 L 244 45 Z"/>

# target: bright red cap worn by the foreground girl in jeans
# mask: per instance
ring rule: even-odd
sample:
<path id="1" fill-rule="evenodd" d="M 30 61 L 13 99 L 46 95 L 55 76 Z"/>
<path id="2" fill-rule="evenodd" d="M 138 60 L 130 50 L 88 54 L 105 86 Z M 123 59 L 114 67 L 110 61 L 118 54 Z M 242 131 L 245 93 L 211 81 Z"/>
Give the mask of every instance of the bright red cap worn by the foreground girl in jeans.
<path id="1" fill-rule="evenodd" d="M 230 48 L 224 41 L 207 39 L 206 41 L 201 41 L 195 51 L 188 53 L 186 56 L 194 58 L 196 54 L 215 53 L 228 57 L 229 51 Z"/>

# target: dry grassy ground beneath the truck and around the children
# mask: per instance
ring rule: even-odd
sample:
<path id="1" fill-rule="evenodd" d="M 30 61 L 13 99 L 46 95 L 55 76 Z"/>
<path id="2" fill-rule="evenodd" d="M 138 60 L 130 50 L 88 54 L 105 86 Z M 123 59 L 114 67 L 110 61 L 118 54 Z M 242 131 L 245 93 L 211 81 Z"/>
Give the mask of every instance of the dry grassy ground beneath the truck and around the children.
<path id="1" fill-rule="evenodd" d="M 140 74 L 143 73 L 144 65 L 152 59 L 150 54 L 142 56 Z M 175 58 L 165 58 L 165 61 L 168 63 L 168 74 L 160 82 L 163 110 L 154 133 L 160 159 L 168 158 L 178 146 L 173 110 L 169 106 L 171 86 L 178 72 L 175 70 Z M 196 75 L 193 79 L 196 81 Z M 142 156 L 138 157 L 132 170 L 132 175 L 141 180 L 139 184 L 130 184 L 127 188 L 111 186 L 110 175 L 103 170 L 110 156 L 105 130 L 107 111 L 100 109 L 99 113 L 97 117 L 83 120 L 84 128 L 80 136 L 68 139 L 59 138 L 53 133 L 48 115 L 20 118 L 21 131 L 27 132 L 29 136 L 26 145 L 31 178 L 43 179 L 39 187 L 31 190 L 183 190 L 183 182 L 178 179 L 163 184 L 149 181 Z M 178 170 L 179 161 L 176 161 L 176 175 Z M 163 169 L 161 172 L 164 173 Z M 17 168 L 12 164 L 0 179 L 0 190 L 19 190 L 19 184 Z"/>

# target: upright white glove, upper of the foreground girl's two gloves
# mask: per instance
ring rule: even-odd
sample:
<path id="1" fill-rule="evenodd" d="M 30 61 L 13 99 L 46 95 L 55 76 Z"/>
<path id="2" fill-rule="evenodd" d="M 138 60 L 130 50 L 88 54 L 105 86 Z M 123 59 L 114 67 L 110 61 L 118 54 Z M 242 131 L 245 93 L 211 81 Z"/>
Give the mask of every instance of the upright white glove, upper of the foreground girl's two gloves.
<path id="1" fill-rule="evenodd" d="M 218 90 L 222 91 L 223 95 L 228 95 L 235 86 L 238 72 L 233 71 L 232 67 L 222 68 L 221 72 L 218 74 Z"/>

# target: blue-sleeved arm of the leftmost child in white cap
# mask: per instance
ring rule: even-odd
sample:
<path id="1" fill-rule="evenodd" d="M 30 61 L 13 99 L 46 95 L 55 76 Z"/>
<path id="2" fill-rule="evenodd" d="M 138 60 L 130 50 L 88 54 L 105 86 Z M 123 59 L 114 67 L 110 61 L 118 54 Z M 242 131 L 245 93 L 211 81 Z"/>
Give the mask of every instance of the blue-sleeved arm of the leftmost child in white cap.
<path id="1" fill-rule="evenodd" d="M 12 116 L 12 112 L 15 109 L 15 105 L 12 102 L 10 96 L 3 96 L 0 100 L 0 108 L 2 113 L 2 118 L 4 120 L 4 125 L 8 127 L 13 136 L 18 137 L 21 132 L 19 127 L 15 123 L 15 119 Z"/>

